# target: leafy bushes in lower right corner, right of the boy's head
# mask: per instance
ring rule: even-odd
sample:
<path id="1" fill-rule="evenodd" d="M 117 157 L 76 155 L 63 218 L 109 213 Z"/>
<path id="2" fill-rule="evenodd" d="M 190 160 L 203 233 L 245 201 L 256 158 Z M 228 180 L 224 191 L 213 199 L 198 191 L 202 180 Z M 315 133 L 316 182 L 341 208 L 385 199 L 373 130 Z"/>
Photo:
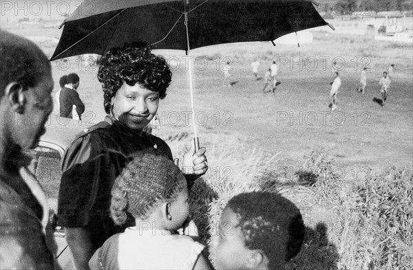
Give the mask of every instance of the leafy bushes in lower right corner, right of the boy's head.
<path id="1" fill-rule="evenodd" d="M 325 222 L 330 243 L 318 247 L 324 249 L 321 254 L 314 253 L 315 244 L 320 245 L 317 237 L 306 236 L 295 269 L 413 269 L 412 173 L 390 168 L 360 181 L 341 179 L 335 168 L 334 160 L 321 148 L 306 155 L 304 170 L 296 172 L 322 206 L 305 211 L 305 222 Z M 328 215 L 317 216 L 323 209 Z M 337 262 L 328 261 L 336 258 L 328 247 L 337 248 Z M 313 257 L 320 255 L 328 260 L 317 265 Z"/>

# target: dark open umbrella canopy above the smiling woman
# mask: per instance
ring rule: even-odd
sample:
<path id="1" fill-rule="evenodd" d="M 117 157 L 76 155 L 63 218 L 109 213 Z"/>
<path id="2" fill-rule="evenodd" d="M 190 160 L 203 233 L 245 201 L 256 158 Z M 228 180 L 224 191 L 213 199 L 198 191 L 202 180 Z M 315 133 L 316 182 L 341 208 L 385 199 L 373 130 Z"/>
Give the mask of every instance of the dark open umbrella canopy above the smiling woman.
<path id="1" fill-rule="evenodd" d="M 51 60 L 104 54 L 133 41 L 146 41 L 153 49 L 184 50 L 274 41 L 328 23 L 310 0 L 87 0 L 63 25 Z"/>

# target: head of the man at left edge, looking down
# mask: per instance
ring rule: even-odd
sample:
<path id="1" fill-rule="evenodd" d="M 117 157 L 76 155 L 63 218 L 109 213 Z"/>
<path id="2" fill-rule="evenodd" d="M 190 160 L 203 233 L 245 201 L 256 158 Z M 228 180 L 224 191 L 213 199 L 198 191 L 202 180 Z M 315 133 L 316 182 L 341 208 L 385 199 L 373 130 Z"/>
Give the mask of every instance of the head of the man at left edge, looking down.
<path id="1" fill-rule="evenodd" d="M 2 146 L 33 148 L 53 109 L 52 70 L 32 41 L 0 30 Z"/>

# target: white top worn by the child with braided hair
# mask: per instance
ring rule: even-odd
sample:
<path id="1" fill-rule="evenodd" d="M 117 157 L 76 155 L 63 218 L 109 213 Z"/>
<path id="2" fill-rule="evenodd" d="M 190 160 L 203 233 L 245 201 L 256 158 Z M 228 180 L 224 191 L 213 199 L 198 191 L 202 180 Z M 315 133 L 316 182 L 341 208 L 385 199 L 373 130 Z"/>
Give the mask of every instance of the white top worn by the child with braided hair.
<path id="1" fill-rule="evenodd" d="M 110 241 L 116 237 L 117 241 Z M 124 233 L 111 238 L 92 257 L 94 262 L 89 262 L 92 269 L 94 265 L 99 265 L 100 269 L 110 269 L 114 265 L 118 269 L 193 269 L 204 249 L 204 245 L 191 237 L 171 234 L 165 229 L 128 227 Z M 118 256 L 114 262 L 111 257 L 116 249 Z"/>

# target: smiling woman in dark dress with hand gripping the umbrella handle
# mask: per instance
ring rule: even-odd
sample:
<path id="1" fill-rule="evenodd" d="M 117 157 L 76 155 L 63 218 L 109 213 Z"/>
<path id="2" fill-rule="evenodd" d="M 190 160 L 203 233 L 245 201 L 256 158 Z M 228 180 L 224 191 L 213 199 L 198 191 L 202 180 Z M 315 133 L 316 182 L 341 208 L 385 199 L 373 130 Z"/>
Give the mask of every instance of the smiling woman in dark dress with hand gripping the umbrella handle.
<path id="1" fill-rule="evenodd" d="M 112 48 L 101 58 L 98 80 L 102 83 L 105 121 L 76 137 L 63 157 L 57 225 L 67 228 L 66 239 L 77 269 L 88 269 L 94 251 L 110 236 L 134 225 L 130 214 L 123 226 L 109 217 L 114 180 L 136 151 L 173 160 L 171 149 L 160 138 L 143 131 L 158 111 L 171 82 L 171 71 L 161 56 L 144 43 Z M 183 166 L 186 178 L 207 172 L 205 148 L 192 149 Z"/>

